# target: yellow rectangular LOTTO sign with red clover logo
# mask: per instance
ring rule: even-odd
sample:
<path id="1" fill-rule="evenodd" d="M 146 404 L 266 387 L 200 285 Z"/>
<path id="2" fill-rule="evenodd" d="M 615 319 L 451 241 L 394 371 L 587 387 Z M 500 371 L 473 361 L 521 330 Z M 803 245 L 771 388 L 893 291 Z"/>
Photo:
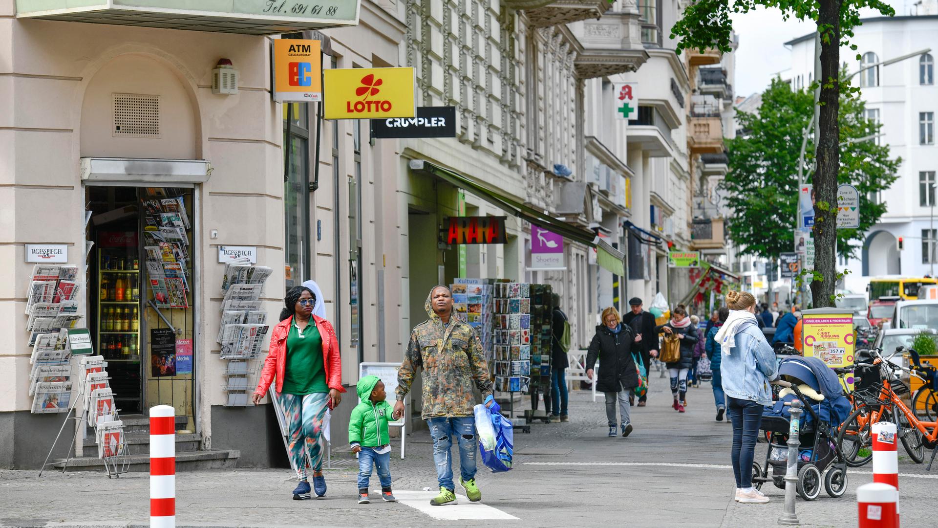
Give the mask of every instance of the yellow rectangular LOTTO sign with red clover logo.
<path id="1" fill-rule="evenodd" d="M 325 70 L 325 118 L 415 117 L 413 68 Z"/>

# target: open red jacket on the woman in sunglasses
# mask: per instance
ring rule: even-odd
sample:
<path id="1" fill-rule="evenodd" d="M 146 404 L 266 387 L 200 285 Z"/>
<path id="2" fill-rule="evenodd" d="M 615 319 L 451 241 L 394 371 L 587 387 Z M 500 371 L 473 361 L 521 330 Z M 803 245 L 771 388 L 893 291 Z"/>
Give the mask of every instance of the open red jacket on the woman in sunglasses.
<path id="1" fill-rule="evenodd" d="M 336 331 L 332 328 L 332 323 L 312 316 L 316 323 L 316 329 L 323 339 L 323 365 L 325 367 L 325 384 L 330 389 L 335 389 L 344 393 L 342 387 L 342 357 L 339 352 L 339 339 L 336 338 Z M 274 327 L 270 335 L 270 350 L 267 352 L 267 359 L 264 361 L 264 368 L 261 370 L 261 380 L 254 389 L 254 394 L 264 396 L 270 383 L 274 380 L 274 374 L 277 374 L 277 393 L 283 389 L 283 373 L 287 365 L 287 335 L 290 334 L 290 325 L 293 323 L 293 316 L 281 320 Z"/>

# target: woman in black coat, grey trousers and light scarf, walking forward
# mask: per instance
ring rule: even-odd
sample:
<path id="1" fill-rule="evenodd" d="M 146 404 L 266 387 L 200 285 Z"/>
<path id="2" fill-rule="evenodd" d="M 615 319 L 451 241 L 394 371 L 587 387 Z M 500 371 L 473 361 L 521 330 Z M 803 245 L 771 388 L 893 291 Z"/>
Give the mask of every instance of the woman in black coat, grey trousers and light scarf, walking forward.
<path id="1" fill-rule="evenodd" d="M 622 324 L 619 312 L 613 306 L 602 311 L 602 322 L 596 327 L 596 334 L 586 353 L 586 377 L 593 379 L 593 367 L 600 360 L 596 389 L 606 396 L 606 419 L 609 422 L 609 436 L 615 437 L 615 403 L 619 403 L 619 417 L 622 420 L 622 436 L 632 432 L 628 417 L 628 397 L 632 389 L 639 386 L 638 370 L 635 361 L 638 354 L 632 353 L 634 337 L 631 327 Z"/>

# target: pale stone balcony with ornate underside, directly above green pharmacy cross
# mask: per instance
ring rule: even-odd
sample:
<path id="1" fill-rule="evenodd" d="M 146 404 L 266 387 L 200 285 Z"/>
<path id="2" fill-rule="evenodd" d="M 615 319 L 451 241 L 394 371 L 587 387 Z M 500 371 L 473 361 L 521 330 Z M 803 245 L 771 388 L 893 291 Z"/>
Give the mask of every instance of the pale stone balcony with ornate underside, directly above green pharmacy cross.
<path id="1" fill-rule="evenodd" d="M 610 13 L 598 21 L 569 23 L 567 28 L 582 45 L 574 62 L 581 79 L 636 71 L 648 60 L 635 11 Z"/>

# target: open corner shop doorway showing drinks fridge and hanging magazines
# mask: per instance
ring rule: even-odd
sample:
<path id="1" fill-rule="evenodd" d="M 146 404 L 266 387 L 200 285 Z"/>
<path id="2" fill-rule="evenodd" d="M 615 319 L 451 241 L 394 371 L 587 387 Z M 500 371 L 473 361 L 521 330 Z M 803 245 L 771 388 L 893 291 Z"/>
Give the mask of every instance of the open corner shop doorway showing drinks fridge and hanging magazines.
<path id="1" fill-rule="evenodd" d="M 125 414 L 172 405 L 195 430 L 191 189 L 86 187 L 89 318 Z"/>

